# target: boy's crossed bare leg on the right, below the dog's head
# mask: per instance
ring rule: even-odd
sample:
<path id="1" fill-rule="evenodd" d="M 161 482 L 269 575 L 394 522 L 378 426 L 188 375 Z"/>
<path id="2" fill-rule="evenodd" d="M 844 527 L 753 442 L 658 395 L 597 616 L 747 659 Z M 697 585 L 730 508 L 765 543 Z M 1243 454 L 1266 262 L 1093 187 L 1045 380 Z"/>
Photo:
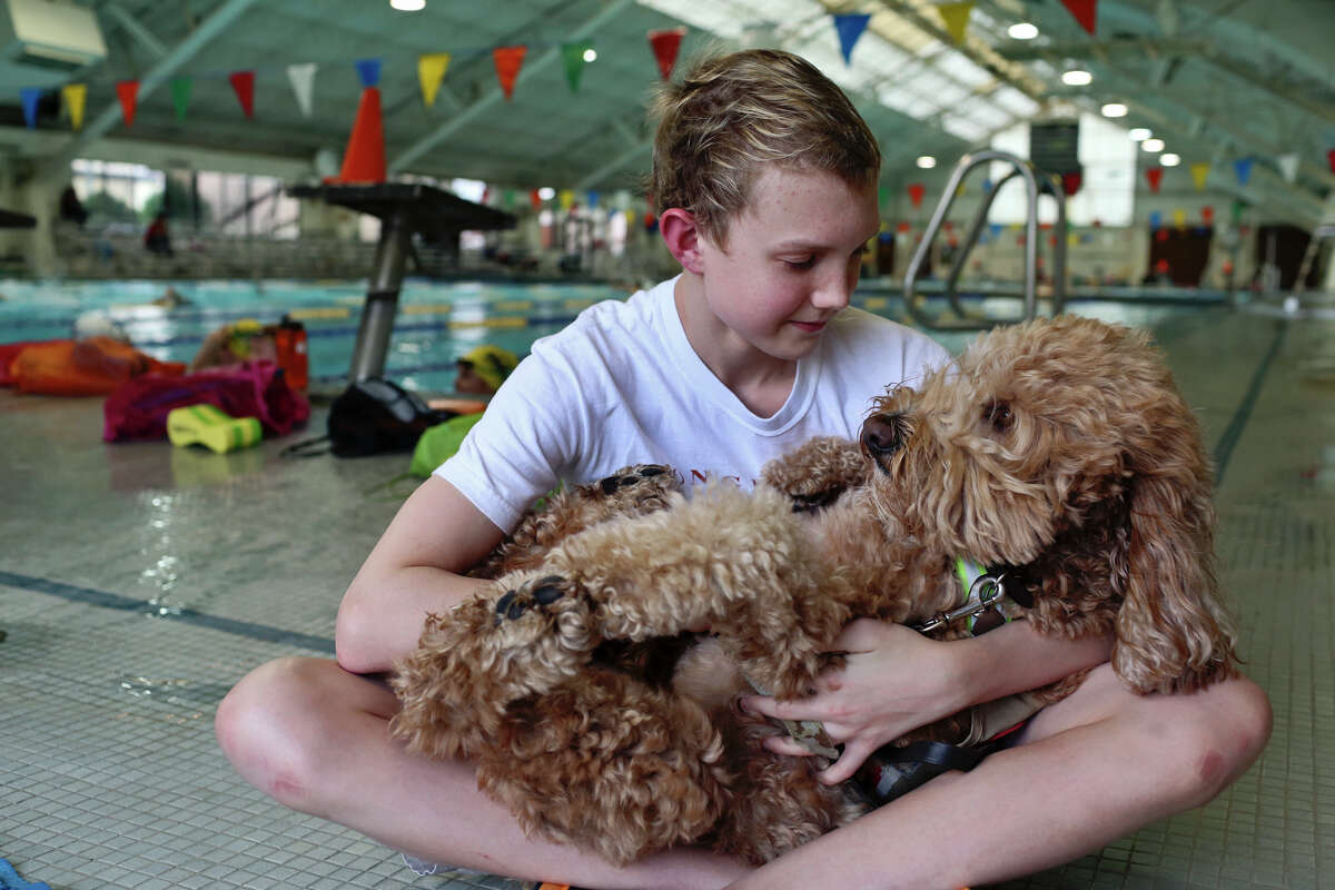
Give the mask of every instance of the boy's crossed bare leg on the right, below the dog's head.
<path id="1" fill-rule="evenodd" d="M 1024 743 L 947 774 L 733 885 L 977 886 L 1069 862 L 1239 778 L 1270 737 L 1248 679 L 1137 697 L 1108 664 L 1041 711 Z"/>

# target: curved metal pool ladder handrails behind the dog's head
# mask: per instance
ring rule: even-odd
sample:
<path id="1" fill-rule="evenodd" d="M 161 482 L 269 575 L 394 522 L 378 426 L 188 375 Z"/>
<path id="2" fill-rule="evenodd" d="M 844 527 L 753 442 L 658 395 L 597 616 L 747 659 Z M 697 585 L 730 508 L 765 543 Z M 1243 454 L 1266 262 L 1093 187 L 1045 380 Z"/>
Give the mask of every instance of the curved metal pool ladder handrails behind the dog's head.
<path id="1" fill-rule="evenodd" d="M 969 232 L 964 242 L 961 242 L 955 263 L 951 267 L 951 275 L 945 282 L 944 294 L 951 302 L 951 310 L 953 311 L 955 318 L 948 319 L 945 318 L 945 314 L 933 316 L 926 312 L 922 307 L 924 300 L 914 292 L 918 270 L 922 267 L 922 260 L 926 259 L 928 251 L 932 250 L 932 243 L 936 240 L 936 236 L 941 230 L 941 224 L 945 221 L 945 215 L 951 211 L 951 205 L 955 203 L 955 196 L 960 188 L 960 183 L 964 181 L 964 177 L 969 173 L 969 171 L 995 160 L 1009 164 L 1013 169 L 1007 173 L 1001 181 L 993 185 L 979 204 L 973 224 L 969 227 Z M 997 192 L 1001 191 L 1004 184 L 1017 176 L 1024 177 L 1025 189 L 1028 192 L 1028 219 L 1025 221 L 1024 238 L 1024 315 L 1013 319 L 971 315 L 960 303 L 960 274 L 964 271 L 964 264 L 968 260 L 969 252 L 973 250 L 975 244 L 977 244 L 979 236 L 983 234 L 983 227 L 987 226 L 988 211 L 992 208 L 993 199 L 996 199 Z M 981 331 L 997 324 L 1012 324 L 1015 322 L 1024 322 L 1036 318 L 1039 303 L 1037 271 L 1040 193 L 1051 195 L 1057 204 L 1056 246 L 1052 251 L 1052 314 L 1056 315 L 1061 312 L 1067 299 L 1067 203 L 1065 195 L 1061 189 L 1061 183 L 1055 176 L 1041 172 L 1031 161 L 1024 160 L 1017 155 L 989 148 L 987 151 L 963 156 L 951 172 L 951 179 L 945 184 L 945 192 L 941 195 L 941 200 L 937 201 L 936 211 L 933 211 L 932 219 L 926 224 L 926 231 L 922 234 L 922 240 L 913 252 L 909 268 L 904 274 L 904 308 L 909 316 L 912 316 L 913 320 L 922 327 L 937 331 Z"/>

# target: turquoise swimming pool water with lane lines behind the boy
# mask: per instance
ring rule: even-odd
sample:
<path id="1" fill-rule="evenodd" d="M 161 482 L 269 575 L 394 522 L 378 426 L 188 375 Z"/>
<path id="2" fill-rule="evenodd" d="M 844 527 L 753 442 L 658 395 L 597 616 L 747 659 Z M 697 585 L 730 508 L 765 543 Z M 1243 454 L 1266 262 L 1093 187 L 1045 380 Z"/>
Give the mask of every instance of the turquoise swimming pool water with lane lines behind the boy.
<path id="1" fill-rule="evenodd" d="M 190 304 L 154 306 L 168 286 Z M 68 338 L 75 320 L 93 312 L 120 326 L 154 358 L 190 362 L 210 331 L 223 324 L 247 318 L 268 324 L 290 314 L 306 326 L 311 379 L 336 386 L 351 363 L 364 287 L 362 282 L 0 282 L 0 343 Z M 559 331 L 581 310 L 626 296 L 623 288 L 610 284 L 409 279 L 399 296 L 386 376 L 410 390 L 450 392 L 455 359 L 473 347 L 493 343 L 522 356 L 535 339 Z M 853 304 L 912 323 L 893 288 L 858 290 Z M 1013 316 L 1019 307 L 1004 299 L 973 304 L 997 316 Z M 1083 302 L 1068 304 L 1068 310 L 1144 327 L 1196 311 L 1135 302 Z M 959 352 L 975 335 L 932 336 Z"/>

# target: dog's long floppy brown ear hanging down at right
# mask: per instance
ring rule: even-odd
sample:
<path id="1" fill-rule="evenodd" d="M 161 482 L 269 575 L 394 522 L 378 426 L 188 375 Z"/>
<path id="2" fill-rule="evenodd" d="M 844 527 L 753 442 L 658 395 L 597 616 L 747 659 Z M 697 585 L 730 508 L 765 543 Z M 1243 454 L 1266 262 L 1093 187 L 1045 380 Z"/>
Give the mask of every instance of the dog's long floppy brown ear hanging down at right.
<path id="1" fill-rule="evenodd" d="M 1191 408 L 1155 411 L 1132 479 L 1112 666 L 1137 693 L 1200 689 L 1234 670 L 1234 626 L 1218 591 L 1210 462 Z"/>

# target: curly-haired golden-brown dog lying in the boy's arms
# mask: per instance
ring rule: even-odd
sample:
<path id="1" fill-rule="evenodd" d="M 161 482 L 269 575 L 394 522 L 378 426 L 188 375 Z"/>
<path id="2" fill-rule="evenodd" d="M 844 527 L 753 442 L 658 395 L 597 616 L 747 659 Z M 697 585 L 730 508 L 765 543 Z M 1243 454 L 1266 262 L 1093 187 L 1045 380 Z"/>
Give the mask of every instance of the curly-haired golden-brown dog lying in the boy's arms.
<path id="1" fill-rule="evenodd" d="M 1113 634 L 1137 693 L 1234 670 L 1208 460 L 1141 332 L 1071 316 L 992 331 L 888 391 L 860 443 L 813 440 L 754 492 L 688 500 L 662 470 L 530 518 L 495 583 L 433 615 L 392 681 L 413 750 L 475 761 L 526 830 L 613 862 L 678 843 L 762 862 L 864 813 L 760 747 L 774 730 L 736 694 L 805 694 L 852 618 L 953 607 L 956 556 L 1005 566 L 1044 634 Z M 967 717 L 918 735 L 959 741 Z"/>

